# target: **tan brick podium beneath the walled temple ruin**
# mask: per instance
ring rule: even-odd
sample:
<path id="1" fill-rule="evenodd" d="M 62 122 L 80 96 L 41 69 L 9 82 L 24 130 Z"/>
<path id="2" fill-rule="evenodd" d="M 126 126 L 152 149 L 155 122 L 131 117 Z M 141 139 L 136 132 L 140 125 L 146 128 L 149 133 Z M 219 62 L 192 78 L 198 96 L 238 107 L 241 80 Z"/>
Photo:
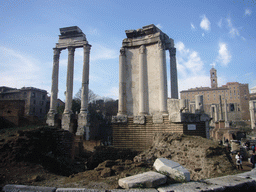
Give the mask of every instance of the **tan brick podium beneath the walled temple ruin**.
<path id="1" fill-rule="evenodd" d="M 153 136 L 159 132 L 179 132 L 187 135 L 206 137 L 205 122 L 196 123 L 196 130 L 188 130 L 187 124 L 172 123 L 164 117 L 163 123 L 153 123 L 152 116 L 146 116 L 145 124 L 134 124 L 133 117 L 128 117 L 127 123 L 112 124 L 113 146 L 143 151 L 151 146 Z"/>

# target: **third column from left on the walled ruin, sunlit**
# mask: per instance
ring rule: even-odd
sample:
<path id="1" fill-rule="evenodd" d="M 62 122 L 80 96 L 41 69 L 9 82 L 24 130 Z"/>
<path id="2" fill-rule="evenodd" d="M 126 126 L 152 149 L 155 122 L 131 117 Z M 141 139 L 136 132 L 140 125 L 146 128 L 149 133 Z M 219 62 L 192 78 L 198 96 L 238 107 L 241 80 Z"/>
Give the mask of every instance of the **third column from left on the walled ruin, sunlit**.
<path id="1" fill-rule="evenodd" d="M 166 72 L 166 55 L 162 42 L 158 43 L 159 47 L 159 112 L 168 114 L 167 112 L 167 72 Z"/>

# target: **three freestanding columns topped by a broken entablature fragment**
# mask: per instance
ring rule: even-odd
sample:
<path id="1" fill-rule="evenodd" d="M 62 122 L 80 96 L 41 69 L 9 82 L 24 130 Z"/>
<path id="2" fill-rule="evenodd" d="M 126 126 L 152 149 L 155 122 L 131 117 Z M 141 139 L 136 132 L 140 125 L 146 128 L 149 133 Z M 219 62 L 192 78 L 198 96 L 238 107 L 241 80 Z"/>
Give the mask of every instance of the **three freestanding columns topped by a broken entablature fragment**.
<path id="1" fill-rule="evenodd" d="M 88 85 L 89 85 L 89 55 L 91 45 L 88 44 L 85 34 L 77 27 L 60 28 L 59 41 L 56 43 L 53 57 L 52 70 L 52 89 L 50 110 L 47 115 L 47 124 L 56 126 L 57 100 L 58 100 L 58 78 L 59 78 L 59 57 L 63 49 L 68 49 L 68 65 L 67 65 L 67 82 L 66 82 L 66 102 L 65 110 L 62 115 L 62 128 L 71 130 L 73 118 L 72 113 L 72 97 L 73 97 L 73 79 L 74 79 L 74 56 L 76 48 L 84 49 L 83 77 L 82 77 L 82 94 L 81 94 L 81 112 L 78 115 L 78 130 L 76 135 L 84 135 L 88 128 Z"/>

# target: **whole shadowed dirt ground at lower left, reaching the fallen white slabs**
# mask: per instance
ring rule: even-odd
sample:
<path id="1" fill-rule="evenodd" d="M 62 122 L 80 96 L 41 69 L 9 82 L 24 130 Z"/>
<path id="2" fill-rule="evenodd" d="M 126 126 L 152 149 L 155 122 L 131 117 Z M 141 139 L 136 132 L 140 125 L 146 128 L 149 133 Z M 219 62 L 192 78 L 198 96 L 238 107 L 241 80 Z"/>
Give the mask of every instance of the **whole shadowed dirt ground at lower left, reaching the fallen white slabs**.
<path id="1" fill-rule="evenodd" d="M 137 152 L 99 146 L 72 161 L 72 134 L 49 127 L 0 135 L 0 191 L 5 184 L 113 189 L 121 177 L 151 170 Z"/>

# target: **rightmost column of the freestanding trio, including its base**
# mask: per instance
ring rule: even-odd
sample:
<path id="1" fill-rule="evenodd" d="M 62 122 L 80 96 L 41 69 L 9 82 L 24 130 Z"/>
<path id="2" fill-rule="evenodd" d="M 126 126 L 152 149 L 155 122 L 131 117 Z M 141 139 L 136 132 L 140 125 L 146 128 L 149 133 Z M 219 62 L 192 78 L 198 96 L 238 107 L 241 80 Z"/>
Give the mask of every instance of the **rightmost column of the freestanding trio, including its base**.
<path id="1" fill-rule="evenodd" d="M 84 49 L 84 63 L 83 63 L 83 76 L 81 88 L 81 109 L 78 115 L 78 128 L 76 135 L 84 136 L 89 139 L 89 126 L 88 126 L 88 88 L 89 88 L 89 60 L 91 45 L 86 44 Z"/>

